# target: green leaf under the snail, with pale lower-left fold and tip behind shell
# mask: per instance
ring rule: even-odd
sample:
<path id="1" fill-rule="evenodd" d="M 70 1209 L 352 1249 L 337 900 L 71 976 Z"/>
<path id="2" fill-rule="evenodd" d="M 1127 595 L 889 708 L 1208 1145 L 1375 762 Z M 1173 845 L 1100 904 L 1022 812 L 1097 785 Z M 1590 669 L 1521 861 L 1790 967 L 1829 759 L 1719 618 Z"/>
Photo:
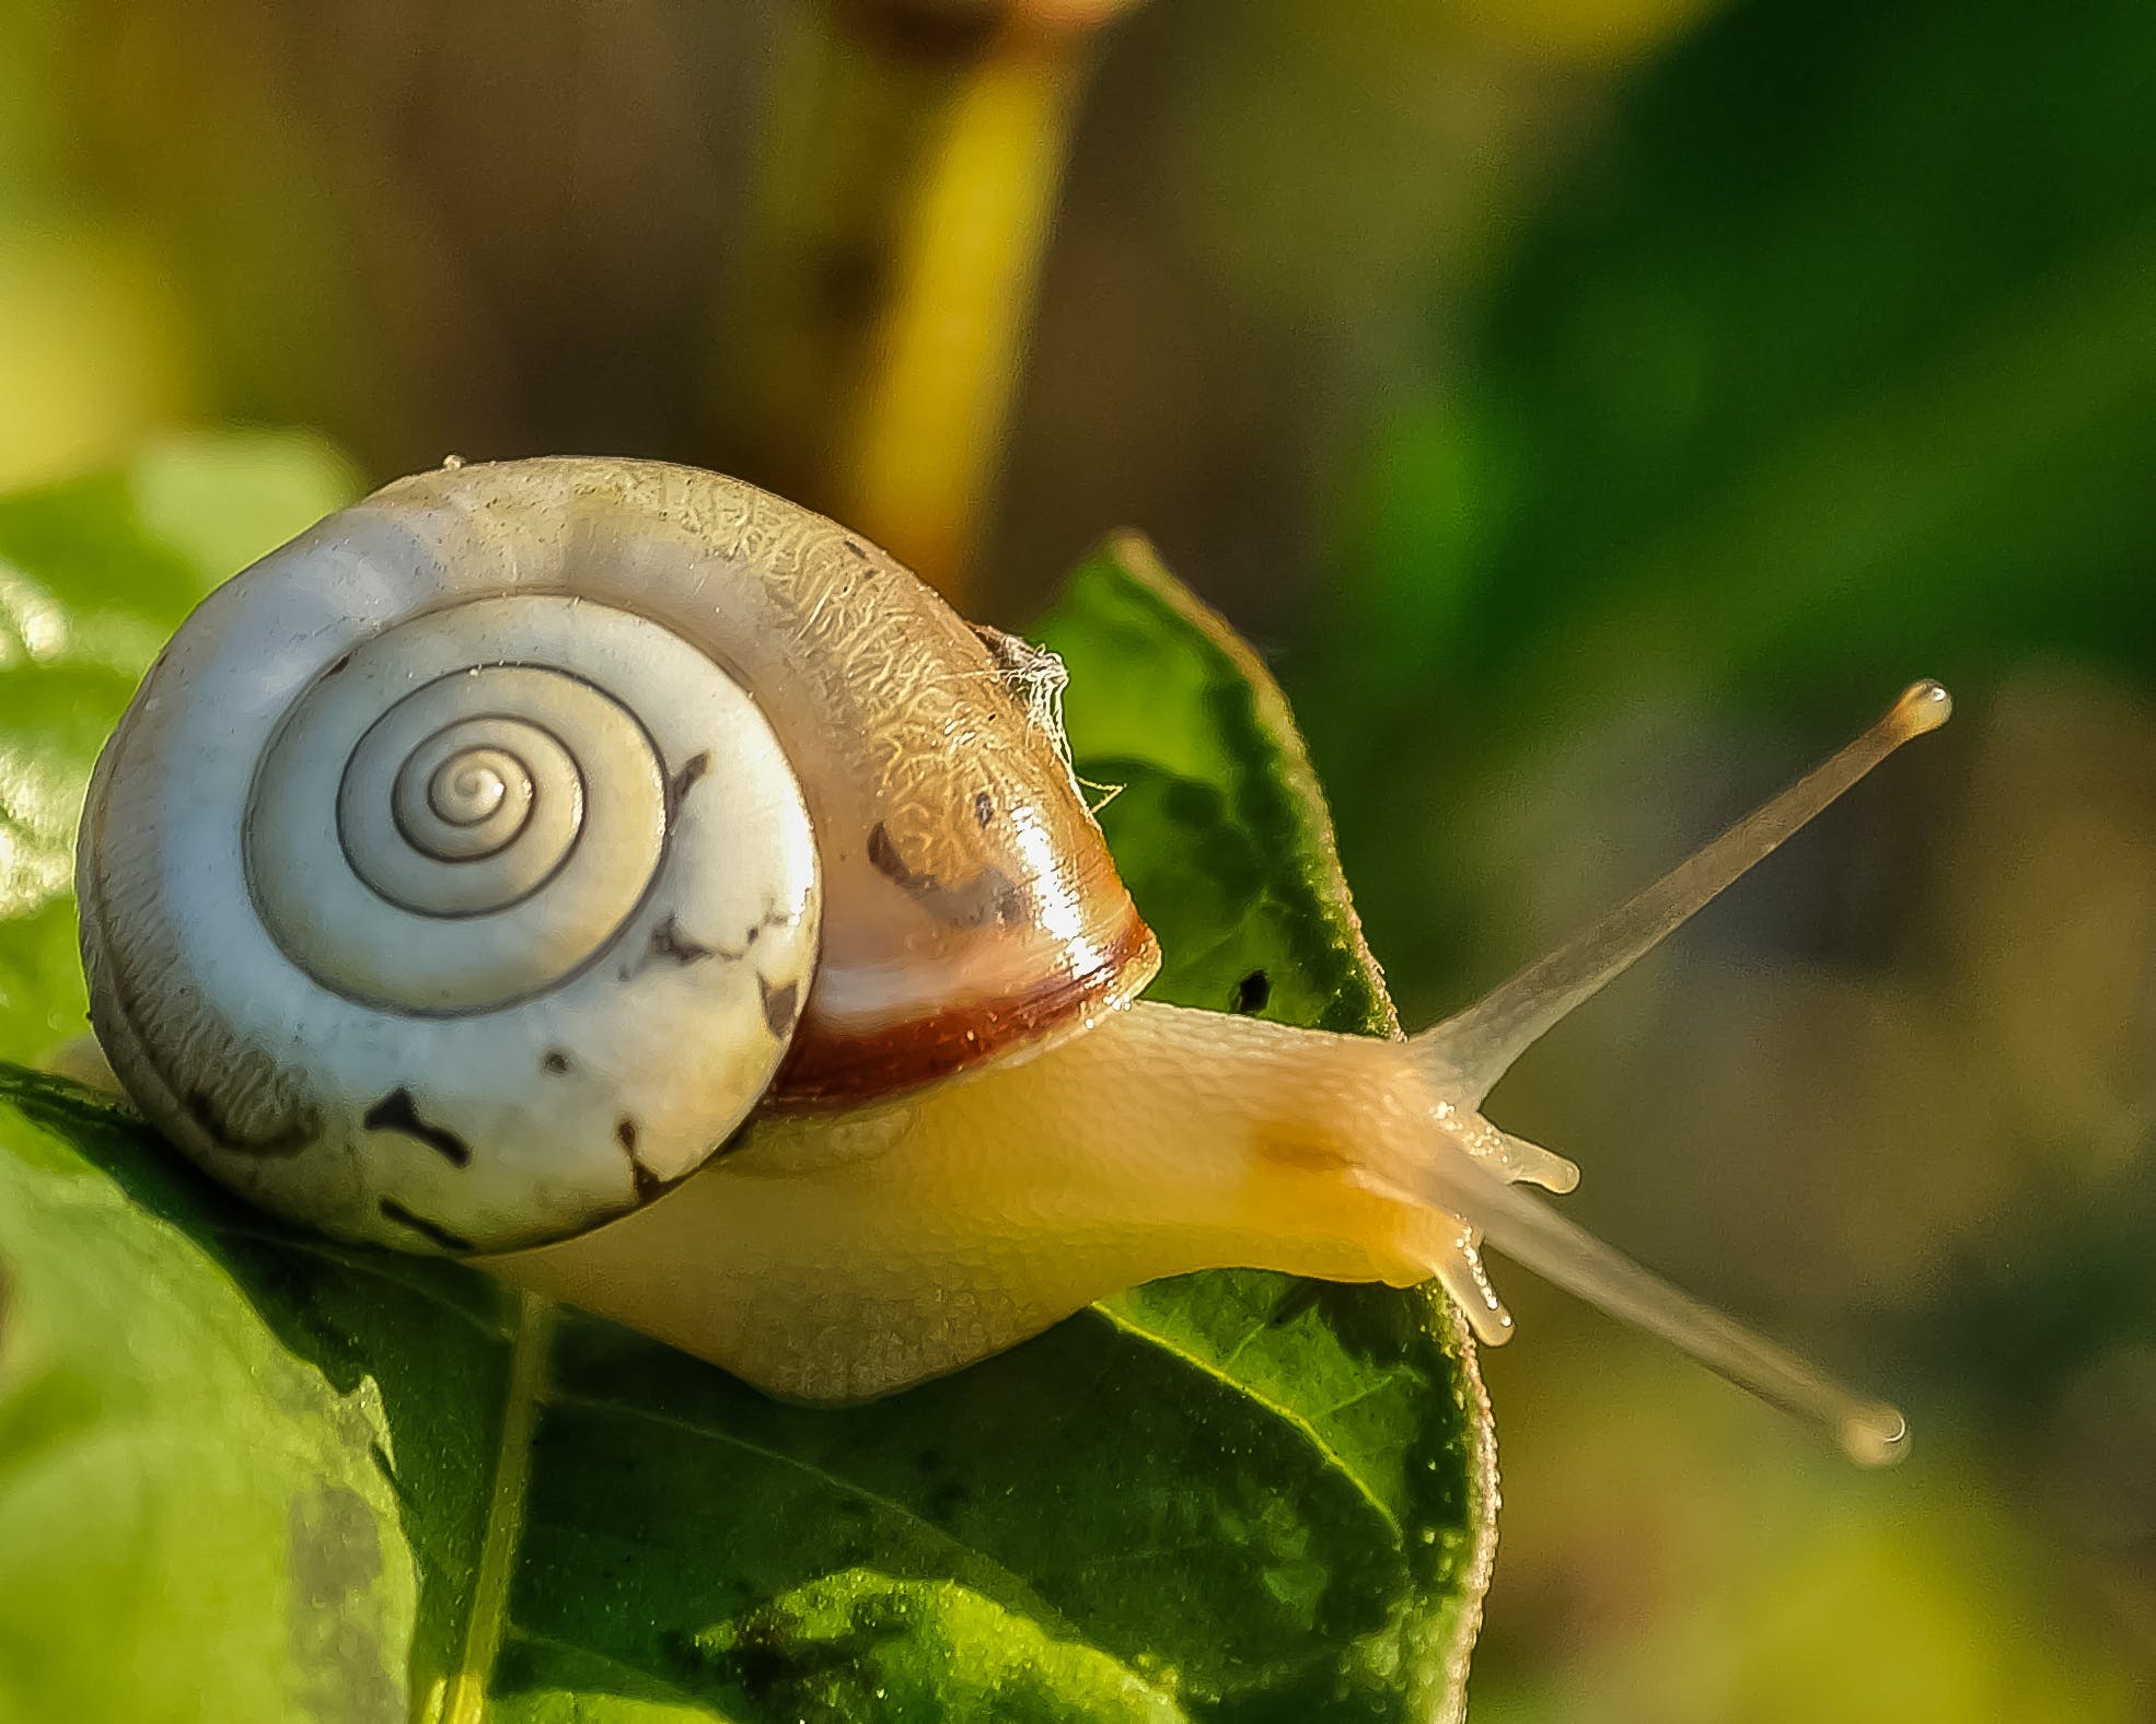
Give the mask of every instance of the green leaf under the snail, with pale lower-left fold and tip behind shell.
<path id="1" fill-rule="evenodd" d="M 1134 543 L 1048 631 L 1082 769 L 1128 787 L 1160 991 L 1263 974 L 1270 1015 L 1388 1032 L 1246 649 Z M 1190 1276 L 783 1407 L 457 1265 L 293 1237 L 0 1073 L 0 1720 L 1457 1713 L 1494 1478 L 1432 1293 Z"/>

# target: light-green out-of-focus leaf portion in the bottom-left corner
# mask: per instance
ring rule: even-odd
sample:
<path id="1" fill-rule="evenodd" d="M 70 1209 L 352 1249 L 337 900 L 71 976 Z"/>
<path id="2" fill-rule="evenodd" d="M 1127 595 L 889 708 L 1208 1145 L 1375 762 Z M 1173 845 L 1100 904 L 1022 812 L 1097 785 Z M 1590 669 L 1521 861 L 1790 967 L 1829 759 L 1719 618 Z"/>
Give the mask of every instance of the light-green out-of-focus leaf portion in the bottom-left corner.
<path id="1" fill-rule="evenodd" d="M 207 1194 L 114 1110 L 13 1067 L 0 1099 L 0 1718 L 399 1718 L 412 1379 L 308 1330 L 304 1248 L 201 1246 Z"/>

